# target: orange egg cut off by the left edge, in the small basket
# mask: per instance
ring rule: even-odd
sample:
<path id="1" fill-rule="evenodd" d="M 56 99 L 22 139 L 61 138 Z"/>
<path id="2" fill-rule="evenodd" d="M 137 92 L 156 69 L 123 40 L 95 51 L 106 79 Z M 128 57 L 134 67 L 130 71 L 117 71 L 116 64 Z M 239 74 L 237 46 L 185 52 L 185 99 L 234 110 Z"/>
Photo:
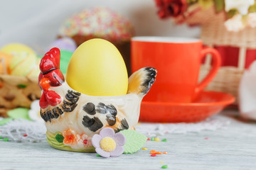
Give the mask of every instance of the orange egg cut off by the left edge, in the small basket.
<path id="1" fill-rule="evenodd" d="M 5 52 L 0 52 L 0 74 L 10 73 L 10 62 L 13 56 Z"/>

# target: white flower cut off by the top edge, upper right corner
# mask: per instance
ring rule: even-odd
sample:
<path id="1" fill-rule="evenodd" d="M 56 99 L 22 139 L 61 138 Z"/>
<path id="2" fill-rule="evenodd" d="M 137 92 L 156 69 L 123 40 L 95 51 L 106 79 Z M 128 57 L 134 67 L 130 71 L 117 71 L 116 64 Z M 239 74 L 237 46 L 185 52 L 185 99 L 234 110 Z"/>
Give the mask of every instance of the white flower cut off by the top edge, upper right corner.
<path id="1" fill-rule="evenodd" d="M 225 0 L 225 11 L 237 9 L 242 15 L 248 13 L 248 8 L 255 4 L 255 0 Z"/>

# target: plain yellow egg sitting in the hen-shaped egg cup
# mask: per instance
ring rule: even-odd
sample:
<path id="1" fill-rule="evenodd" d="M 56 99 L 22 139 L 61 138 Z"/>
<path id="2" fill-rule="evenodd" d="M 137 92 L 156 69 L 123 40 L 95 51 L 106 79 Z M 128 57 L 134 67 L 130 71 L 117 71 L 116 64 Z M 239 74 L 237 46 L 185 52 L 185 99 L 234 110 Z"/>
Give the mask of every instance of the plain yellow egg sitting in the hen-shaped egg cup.
<path id="1" fill-rule="evenodd" d="M 87 40 L 73 53 L 66 74 L 68 85 L 90 96 L 127 94 L 128 75 L 122 55 L 111 42 Z"/>

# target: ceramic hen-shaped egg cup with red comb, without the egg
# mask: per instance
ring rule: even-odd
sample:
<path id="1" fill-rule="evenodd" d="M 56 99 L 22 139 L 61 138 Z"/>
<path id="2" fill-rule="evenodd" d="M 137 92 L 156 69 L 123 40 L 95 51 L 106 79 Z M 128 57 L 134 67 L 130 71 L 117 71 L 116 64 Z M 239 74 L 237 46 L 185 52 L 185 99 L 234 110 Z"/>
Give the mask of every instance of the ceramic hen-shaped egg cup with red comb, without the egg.
<path id="1" fill-rule="evenodd" d="M 88 96 L 72 89 L 60 71 L 60 50 L 54 47 L 40 63 L 41 117 L 50 146 L 75 152 L 95 152 L 92 136 L 102 128 L 134 130 L 142 98 L 156 78 L 156 69 L 144 67 L 128 80 L 122 96 Z"/>

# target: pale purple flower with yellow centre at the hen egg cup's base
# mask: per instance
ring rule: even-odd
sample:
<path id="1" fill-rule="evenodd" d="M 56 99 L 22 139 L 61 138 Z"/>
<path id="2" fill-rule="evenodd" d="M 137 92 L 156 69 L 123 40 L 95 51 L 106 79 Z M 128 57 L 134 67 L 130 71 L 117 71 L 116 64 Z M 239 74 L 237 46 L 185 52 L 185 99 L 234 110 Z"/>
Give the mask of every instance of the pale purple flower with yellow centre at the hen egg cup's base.
<path id="1" fill-rule="evenodd" d="M 100 135 L 93 135 L 92 145 L 102 157 L 119 157 L 124 152 L 125 137 L 122 133 L 114 134 L 112 128 L 103 128 Z"/>

